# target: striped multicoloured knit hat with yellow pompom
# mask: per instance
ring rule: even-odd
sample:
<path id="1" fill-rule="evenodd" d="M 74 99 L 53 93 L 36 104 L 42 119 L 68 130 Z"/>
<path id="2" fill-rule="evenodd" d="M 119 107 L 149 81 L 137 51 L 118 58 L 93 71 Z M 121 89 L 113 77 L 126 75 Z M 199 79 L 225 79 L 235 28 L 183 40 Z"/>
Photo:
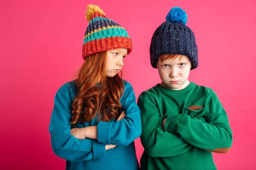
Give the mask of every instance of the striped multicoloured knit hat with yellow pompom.
<path id="1" fill-rule="evenodd" d="M 84 35 L 83 59 L 91 54 L 117 48 L 127 48 L 127 54 L 131 53 L 131 37 L 125 28 L 107 18 L 99 6 L 88 5 L 85 15 L 89 24 Z"/>

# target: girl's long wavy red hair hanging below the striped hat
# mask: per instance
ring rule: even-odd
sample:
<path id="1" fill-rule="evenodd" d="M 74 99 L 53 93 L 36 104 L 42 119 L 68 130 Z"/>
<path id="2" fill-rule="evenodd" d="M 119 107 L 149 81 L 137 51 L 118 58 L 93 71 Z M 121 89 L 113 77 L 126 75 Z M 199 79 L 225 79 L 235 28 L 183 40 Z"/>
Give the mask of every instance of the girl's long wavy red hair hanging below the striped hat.
<path id="1" fill-rule="evenodd" d="M 78 94 L 72 104 L 71 124 L 89 122 L 96 114 L 100 121 L 109 122 L 120 113 L 119 102 L 125 85 L 121 76 L 106 76 L 107 52 L 92 54 L 85 58 L 76 81 Z"/>

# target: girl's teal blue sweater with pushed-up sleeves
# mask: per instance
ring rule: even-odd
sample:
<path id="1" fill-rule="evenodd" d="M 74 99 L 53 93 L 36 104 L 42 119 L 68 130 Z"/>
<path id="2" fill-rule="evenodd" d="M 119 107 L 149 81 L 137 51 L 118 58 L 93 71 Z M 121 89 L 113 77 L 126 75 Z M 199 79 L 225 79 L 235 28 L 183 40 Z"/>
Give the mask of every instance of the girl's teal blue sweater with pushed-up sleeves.
<path id="1" fill-rule="evenodd" d="M 137 170 L 134 139 L 141 135 L 140 109 L 136 104 L 131 84 L 123 80 L 125 93 L 120 99 L 125 119 L 98 122 L 96 117 L 90 122 L 79 122 L 76 127 L 97 125 L 97 140 L 76 139 L 70 134 L 71 105 L 77 95 L 75 81 L 67 82 L 57 92 L 54 99 L 49 132 L 52 150 L 66 159 L 66 170 Z M 122 111 L 121 111 L 122 112 Z M 120 112 L 120 113 L 121 113 Z M 114 144 L 105 150 L 106 144 Z"/>

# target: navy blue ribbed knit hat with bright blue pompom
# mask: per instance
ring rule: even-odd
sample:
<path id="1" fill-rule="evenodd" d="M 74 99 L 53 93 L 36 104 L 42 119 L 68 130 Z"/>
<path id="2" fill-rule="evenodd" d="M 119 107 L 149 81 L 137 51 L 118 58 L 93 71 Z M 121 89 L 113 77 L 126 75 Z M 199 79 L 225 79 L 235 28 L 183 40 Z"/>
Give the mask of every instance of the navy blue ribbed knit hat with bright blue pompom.
<path id="1" fill-rule="evenodd" d="M 186 26 L 187 14 L 180 7 L 172 8 L 154 32 L 150 44 L 150 61 L 157 68 L 157 58 L 163 54 L 180 54 L 189 57 L 192 69 L 198 66 L 198 48 L 193 31 Z"/>

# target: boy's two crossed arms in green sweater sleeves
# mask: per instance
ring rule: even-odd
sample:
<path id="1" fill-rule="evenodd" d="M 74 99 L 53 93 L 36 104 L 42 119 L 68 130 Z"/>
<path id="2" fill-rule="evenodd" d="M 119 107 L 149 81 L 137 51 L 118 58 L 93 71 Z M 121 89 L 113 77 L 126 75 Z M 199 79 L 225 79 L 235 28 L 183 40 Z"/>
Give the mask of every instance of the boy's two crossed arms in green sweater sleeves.
<path id="1" fill-rule="evenodd" d="M 212 101 L 214 103 L 220 103 Z M 232 145 L 232 131 L 222 106 L 203 118 L 171 114 L 162 120 L 155 102 L 147 94 L 138 100 L 141 111 L 141 142 L 151 157 L 169 157 L 186 152 L 192 146 L 216 153 L 227 153 Z"/>

